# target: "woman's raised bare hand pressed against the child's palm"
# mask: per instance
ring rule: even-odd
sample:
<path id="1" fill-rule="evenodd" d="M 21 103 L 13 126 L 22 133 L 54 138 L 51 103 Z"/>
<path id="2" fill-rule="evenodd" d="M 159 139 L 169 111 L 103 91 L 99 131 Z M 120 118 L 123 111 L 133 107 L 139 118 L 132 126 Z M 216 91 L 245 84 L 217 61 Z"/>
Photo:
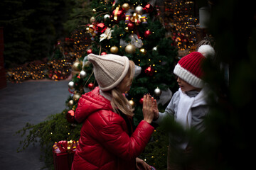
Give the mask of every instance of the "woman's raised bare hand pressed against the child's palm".
<path id="1" fill-rule="evenodd" d="M 153 108 L 154 108 L 154 98 L 151 97 L 149 94 L 145 94 L 143 97 L 142 112 L 143 112 L 144 120 L 147 123 L 151 123 L 154 118 Z"/>

